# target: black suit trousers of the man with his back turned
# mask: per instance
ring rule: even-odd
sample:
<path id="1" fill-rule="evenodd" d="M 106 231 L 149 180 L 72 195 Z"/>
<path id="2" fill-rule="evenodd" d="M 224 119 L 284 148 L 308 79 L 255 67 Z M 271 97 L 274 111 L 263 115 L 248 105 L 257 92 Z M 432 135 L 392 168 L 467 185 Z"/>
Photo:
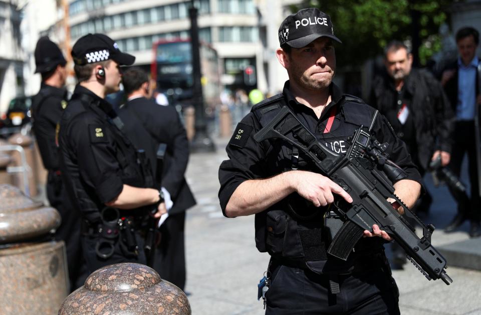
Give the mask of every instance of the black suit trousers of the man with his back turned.
<path id="1" fill-rule="evenodd" d="M 185 211 L 169 214 L 160 226 L 160 242 L 155 249 L 153 268 L 164 280 L 181 290 L 185 287 Z"/>

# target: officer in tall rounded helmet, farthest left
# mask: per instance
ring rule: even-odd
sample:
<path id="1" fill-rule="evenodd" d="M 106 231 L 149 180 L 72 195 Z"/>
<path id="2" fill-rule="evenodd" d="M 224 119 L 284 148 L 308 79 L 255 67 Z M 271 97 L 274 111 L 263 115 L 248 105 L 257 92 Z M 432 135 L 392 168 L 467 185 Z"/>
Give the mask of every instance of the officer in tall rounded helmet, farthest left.
<path id="1" fill-rule="evenodd" d="M 55 231 L 57 240 L 65 241 L 69 268 L 71 291 L 83 285 L 86 270 L 80 245 L 80 215 L 73 209 L 66 195 L 60 174 L 60 163 L 55 129 L 67 106 L 67 90 L 64 88 L 67 78 L 67 61 L 56 43 L 44 36 L 35 48 L 35 73 L 42 75 L 40 91 L 33 98 L 33 130 L 39 145 L 42 162 L 48 170 L 47 198 L 62 217 L 62 223 Z"/>

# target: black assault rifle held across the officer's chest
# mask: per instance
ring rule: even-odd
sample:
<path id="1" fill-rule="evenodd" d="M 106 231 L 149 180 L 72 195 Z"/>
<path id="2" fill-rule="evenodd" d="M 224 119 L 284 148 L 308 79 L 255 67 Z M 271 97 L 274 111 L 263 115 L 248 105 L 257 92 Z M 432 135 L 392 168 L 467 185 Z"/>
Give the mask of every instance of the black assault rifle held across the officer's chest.
<path id="1" fill-rule="evenodd" d="M 368 131 L 376 115 L 377 111 Z M 329 254 L 346 260 L 363 231 L 371 230 L 372 225 L 377 224 L 406 251 L 409 260 L 428 280 L 441 278 L 446 284 L 452 282 L 444 270 L 446 259 L 431 245 L 434 226 L 424 225 L 394 194 L 392 181 L 405 175 L 383 152 L 387 143 L 380 144 L 361 126 L 353 135 L 346 156 L 339 155 L 320 143 L 287 106 L 254 135 L 257 142 L 272 138 L 298 147 L 315 164 L 317 171 L 339 184 L 353 199 L 348 203 L 335 198 L 334 211 L 344 223 L 328 248 Z M 387 198 L 393 198 L 395 202 L 391 204 Z M 421 238 L 393 206 L 401 206 L 405 215 L 422 227 Z"/>

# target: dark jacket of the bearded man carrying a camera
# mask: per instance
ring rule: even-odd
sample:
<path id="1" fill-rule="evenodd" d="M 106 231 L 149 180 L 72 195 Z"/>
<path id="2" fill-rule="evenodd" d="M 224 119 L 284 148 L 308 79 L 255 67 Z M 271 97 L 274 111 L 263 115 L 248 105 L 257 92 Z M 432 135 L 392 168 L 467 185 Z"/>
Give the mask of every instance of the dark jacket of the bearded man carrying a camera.
<path id="1" fill-rule="evenodd" d="M 377 76 L 372 86 L 369 104 L 383 114 L 391 111 L 395 106 L 392 79 L 387 73 Z M 454 112 L 441 84 L 426 70 L 412 69 L 405 88 L 414 119 L 419 166 L 426 169 L 435 150 L 451 151 Z"/>

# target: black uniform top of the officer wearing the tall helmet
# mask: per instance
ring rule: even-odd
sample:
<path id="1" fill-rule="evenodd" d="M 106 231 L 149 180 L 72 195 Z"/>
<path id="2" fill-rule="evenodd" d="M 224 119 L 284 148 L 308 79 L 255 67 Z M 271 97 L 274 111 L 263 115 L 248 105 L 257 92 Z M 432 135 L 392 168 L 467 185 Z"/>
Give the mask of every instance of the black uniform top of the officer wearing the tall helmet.
<path id="1" fill-rule="evenodd" d="M 35 137 L 45 168 L 59 169 L 55 128 L 67 105 L 67 90 L 42 82 L 40 91 L 34 96 L 32 117 Z"/>

